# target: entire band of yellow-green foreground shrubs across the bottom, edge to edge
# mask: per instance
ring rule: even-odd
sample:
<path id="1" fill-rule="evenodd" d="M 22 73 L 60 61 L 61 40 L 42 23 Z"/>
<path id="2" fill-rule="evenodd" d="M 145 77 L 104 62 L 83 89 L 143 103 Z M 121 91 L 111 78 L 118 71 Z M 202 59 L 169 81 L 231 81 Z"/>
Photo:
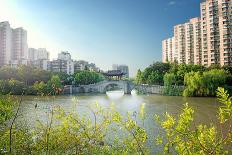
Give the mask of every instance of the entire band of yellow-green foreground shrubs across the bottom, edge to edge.
<path id="1" fill-rule="evenodd" d="M 149 135 L 145 104 L 126 115 L 113 106 L 87 107 L 95 119 L 54 107 L 42 119 L 46 121 L 37 120 L 31 129 L 17 121 L 21 101 L 0 95 L 0 154 L 231 154 L 231 97 L 223 88 L 217 97 L 222 105 L 214 123 L 196 123 L 194 110 L 186 104 L 177 117 L 155 115 L 149 123 L 160 126 L 159 135 Z"/>

